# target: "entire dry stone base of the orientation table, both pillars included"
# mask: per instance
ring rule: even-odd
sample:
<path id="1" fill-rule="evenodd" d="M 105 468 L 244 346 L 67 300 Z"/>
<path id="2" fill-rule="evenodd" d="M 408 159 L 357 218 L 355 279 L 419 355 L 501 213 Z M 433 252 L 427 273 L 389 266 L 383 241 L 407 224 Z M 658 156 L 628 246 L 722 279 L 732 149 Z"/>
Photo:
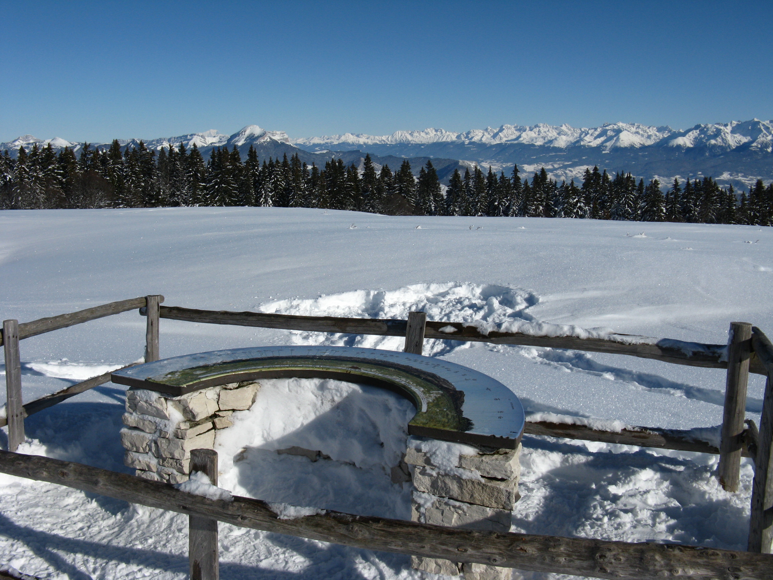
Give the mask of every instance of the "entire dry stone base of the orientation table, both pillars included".
<path id="1" fill-rule="evenodd" d="M 137 476 L 182 483 L 188 479 L 192 449 L 213 449 L 218 429 L 233 425 L 233 411 L 254 404 L 260 384 L 254 381 L 208 387 L 182 397 L 129 389 L 121 442 L 124 463 Z M 318 450 L 290 447 L 279 454 L 303 455 L 312 462 L 329 459 Z M 459 455 L 458 466 L 445 473 L 424 452 L 407 449 L 404 462 L 391 469 L 393 483 L 413 480 L 411 519 L 447 527 L 509 531 L 512 505 L 518 500 L 519 449 L 478 449 Z M 510 568 L 460 564 L 442 558 L 411 557 L 411 566 L 464 580 L 506 580 Z"/>

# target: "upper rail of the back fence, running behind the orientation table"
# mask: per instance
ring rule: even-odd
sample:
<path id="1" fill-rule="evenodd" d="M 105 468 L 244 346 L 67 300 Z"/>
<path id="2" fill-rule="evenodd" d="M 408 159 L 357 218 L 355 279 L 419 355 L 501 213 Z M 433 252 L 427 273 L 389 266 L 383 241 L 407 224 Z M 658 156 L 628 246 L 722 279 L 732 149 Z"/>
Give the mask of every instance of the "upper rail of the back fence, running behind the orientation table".
<path id="1" fill-rule="evenodd" d="M 261 328 L 306 330 L 317 333 L 373 334 L 378 336 L 405 336 L 407 320 L 359 319 L 335 316 L 294 316 L 265 312 L 228 312 L 226 310 L 196 310 L 179 306 L 162 306 L 159 316 L 186 322 L 259 326 Z M 441 329 L 444 329 L 441 331 Z M 446 332 L 451 331 L 452 332 Z M 618 335 L 628 336 L 628 335 Z M 464 322 L 427 322 L 425 339 L 461 340 L 466 342 L 547 346 L 557 349 L 584 350 L 593 353 L 627 354 L 631 357 L 662 360 L 666 363 L 691 367 L 726 369 L 727 361 L 720 360 L 724 344 L 685 343 L 673 339 L 659 339 L 657 343 L 631 343 L 609 339 L 581 339 L 574 336 L 532 336 L 522 333 L 482 333 Z M 751 372 L 764 374 L 764 367 L 751 361 Z"/>

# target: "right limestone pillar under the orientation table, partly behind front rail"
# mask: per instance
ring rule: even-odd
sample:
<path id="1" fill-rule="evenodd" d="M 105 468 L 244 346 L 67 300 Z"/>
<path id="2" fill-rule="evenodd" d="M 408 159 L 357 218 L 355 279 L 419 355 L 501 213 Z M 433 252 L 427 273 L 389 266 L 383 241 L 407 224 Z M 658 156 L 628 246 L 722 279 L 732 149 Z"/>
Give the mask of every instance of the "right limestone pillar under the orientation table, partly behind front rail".
<path id="1" fill-rule="evenodd" d="M 426 449 L 423 442 L 427 440 L 412 438 L 405 457 L 413 467 L 416 488 L 411 519 L 438 526 L 509 531 L 512 507 L 520 497 L 520 445 L 511 450 L 448 443 L 438 453 L 441 442 L 429 445 L 434 449 Z M 512 576 L 511 568 L 441 558 L 414 556 L 411 564 L 434 574 L 463 575 L 465 580 L 506 580 Z"/>

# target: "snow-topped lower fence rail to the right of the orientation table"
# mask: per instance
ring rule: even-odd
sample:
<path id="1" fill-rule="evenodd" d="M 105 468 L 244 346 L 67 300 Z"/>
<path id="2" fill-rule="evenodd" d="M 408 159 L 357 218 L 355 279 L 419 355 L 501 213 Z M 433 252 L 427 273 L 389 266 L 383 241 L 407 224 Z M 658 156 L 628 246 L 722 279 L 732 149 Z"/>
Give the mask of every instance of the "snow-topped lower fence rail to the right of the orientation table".
<path id="1" fill-rule="evenodd" d="M 748 431 L 748 429 L 747 429 Z M 582 441 L 598 441 L 603 443 L 619 443 L 621 445 L 638 445 L 656 449 L 674 449 L 676 451 L 692 451 L 696 453 L 712 453 L 719 455 L 719 448 L 709 442 L 694 438 L 689 431 L 679 429 L 661 429 L 656 427 L 635 427 L 621 429 L 620 432 L 602 431 L 587 425 L 569 425 L 567 423 L 552 423 L 548 421 L 528 421 L 523 429 L 529 435 L 547 435 L 548 437 L 563 437 L 581 439 Z M 746 432 L 744 432 L 746 435 Z M 744 457 L 754 457 L 747 449 L 747 442 L 754 441 L 754 435 L 744 437 Z"/>

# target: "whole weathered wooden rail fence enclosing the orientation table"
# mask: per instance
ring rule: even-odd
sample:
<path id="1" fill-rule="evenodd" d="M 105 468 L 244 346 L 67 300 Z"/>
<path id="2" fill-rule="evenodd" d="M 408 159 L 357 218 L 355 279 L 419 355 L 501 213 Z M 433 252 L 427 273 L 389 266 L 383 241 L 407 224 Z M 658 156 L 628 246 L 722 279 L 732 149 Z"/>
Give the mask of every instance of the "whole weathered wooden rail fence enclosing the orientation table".
<path id="1" fill-rule="evenodd" d="M 350 319 L 259 312 L 216 312 L 162 306 L 163 301 L 163 296 L 150 295 L 33 322 L 3 322 L 0 340 L 5 352 L 8 404 L 7 419 L 0 419 L 0 425 L 7 422 L 10 451 L 0 452 L 0 473 L 58 483 L 150 507 L 189 514 L 192 538 L 191 578 L 217 578 L 216 526 L 213 531 L 213 524 L 206 524 L 208 520 L 358 548 L 594 578 L 663 578 L 676 575 L 707 580 L 773 578 L 773 555 L 768 555 L 773 549 L 773 345 L 760 329 L 747 322 L 730 324 L 730 338 L 727 344 L 702 344 L 628 335 L 613 335 L 608 339 L 581 339 L 573 336 L 532 336 L 496 331 L 483 333 L 476 326 L 463 322 L 427 321 L 426 315 L 421 312 L 411 312 L 407 320 Z M 158 322 L 159 319 L 166 318 L 322 333 L 405 336 L 405 350 L 413 353 L 421 353 L 424 339 L 451 339 L 626 354 L 693 367 L 727 369 L 720 448 L 696 440 L 689 431 L 676 429 L 633 427 L 621 432 L 607 432 L 584 425 L 527 421 L 525 432 L 532 435 L 717 454 L 720 455 L 717 475 L 724 489 L 730 492 L 737 491 L 741 456 L 751 457 L 754 460 L 754 484 L 748 551 L 534 534 L 496 534 L 335 512 L 302 517 L 298 520 L 279 520 L 267 504 L 259 500 L 243 497 L 235 497 L 233 502 L 208 500 L 176 490 L 168 483 L 152 482 L 72 462 L 15 453 L 19 443 L 24 440 L 25 417 L 110 380 L 110 374 L 106 373 L 22 404 L 19 340 L 136 308 L 140 309 L 141 315 L 147 316 L 146 362 L 159 358 Z M 453 327 L 454 331 L 448 332 L 448 326 Z M 744 420 L 750 372 L 767 377 L 759 428 L 754 421 Z M 210 476 L 216 474 L 212 458 L 206 459 L 202 456 L 196 461 L 201 462 L 200 470 Z M 215 554 L 208 556 L 203 548 L 211 548 L 213 541 Z"/>

